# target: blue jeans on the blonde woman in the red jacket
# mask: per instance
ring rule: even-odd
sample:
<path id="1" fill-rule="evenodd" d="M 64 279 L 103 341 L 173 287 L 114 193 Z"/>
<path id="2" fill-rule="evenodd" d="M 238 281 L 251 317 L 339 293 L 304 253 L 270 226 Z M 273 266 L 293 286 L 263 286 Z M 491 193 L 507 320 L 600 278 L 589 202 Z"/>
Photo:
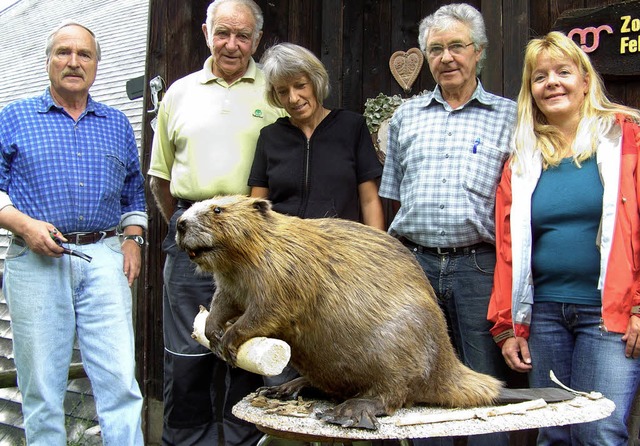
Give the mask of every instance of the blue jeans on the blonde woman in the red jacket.
<path id="1" fill-rule="evenodd" d="M 553 370 L 565 385 L 598 391 L 612 400 L 611 416 L 591 423 L 539 430 L 539 445 L 627 445 L 627 417 L 640 380 L 640 361 L 625 358 L 622 334 L 600 330 L 597 306 L 538 302 L 533 305 L 529 348 L 531 387 L 556 387 Z"/>

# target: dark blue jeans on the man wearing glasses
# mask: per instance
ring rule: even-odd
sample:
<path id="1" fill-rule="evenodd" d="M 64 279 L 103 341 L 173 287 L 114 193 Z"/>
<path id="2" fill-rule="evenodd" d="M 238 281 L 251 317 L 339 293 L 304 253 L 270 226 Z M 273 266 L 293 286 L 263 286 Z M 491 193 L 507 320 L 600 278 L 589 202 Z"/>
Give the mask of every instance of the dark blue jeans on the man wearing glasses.
<path id="1" fill-rule="evenodd" d="M 461 361 L 476 372 L 505 381 L 506 364 L 487 321 L 496 264 L 495 247 L 487 243 L 467 254 L 453 255 L 412 251 L 433 286 Z M 451 439 L 414 440 L 414 445 L 451 443 Z M 508 434 L 500 432 L 470 436 L 467 444 L 506 446 L 508 443 Z"/>

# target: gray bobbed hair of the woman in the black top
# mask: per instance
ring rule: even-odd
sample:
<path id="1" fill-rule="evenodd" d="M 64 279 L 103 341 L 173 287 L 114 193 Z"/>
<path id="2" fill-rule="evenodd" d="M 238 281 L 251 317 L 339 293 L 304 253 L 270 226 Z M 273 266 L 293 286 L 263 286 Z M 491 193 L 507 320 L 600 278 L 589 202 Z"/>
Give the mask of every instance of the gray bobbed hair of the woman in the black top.
<path id="1" fill-rule="evenodd" d="M 267 80 L 267 102 L 282 107 L 274 85 L 307 75 L 313 85 L 318 103 L 329 96 L 329 74 L 311 51 L 293 43 L 279 43 L 268 48 L 260 59 Z"/>

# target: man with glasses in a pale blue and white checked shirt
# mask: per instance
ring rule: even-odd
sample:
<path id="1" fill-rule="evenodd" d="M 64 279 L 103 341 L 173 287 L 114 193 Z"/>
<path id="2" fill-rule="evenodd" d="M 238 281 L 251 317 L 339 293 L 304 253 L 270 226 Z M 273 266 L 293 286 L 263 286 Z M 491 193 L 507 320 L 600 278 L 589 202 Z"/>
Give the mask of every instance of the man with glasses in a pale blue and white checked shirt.
<path id="1" fill-rule="evenodd" d="M 394 113 L 379 193 L 395 204 L 389 232 L 415 254 L 433 285 L 460 359 L 505 380 L 487 309 L 496 263 L 495 192 L 516 105 L 486 92 L 476 77 L 487 35 L 475 8 L 442 6 L 420 23 L 419 43 L 437 85 Z M 468 440 L 507 442 L 506 434 Z"/>

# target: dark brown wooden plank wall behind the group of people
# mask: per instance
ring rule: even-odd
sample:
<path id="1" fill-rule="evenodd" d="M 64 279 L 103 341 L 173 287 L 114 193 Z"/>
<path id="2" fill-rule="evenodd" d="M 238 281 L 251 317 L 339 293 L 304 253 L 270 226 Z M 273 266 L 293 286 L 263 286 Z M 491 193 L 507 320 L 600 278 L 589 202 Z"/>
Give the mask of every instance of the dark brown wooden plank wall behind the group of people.
<path id="1" fill-rule="evenodd" d="M 450 1 L 439 0 L 258 0 L 265 16 L 264 47 L 291 41 L 313 50 L 325 63 L 331 78 L 330 107 L 362 112 L 367 98 L 379 92 L 401 94 L 388 61 L 397 50 L 417 47 L 418 22 Z M 209 55 L 200 29 L 209 0 L 151 0 L 147 54 L 147 79 L 161 75 L 167 85 L 198 70 Z M 489 49 L 482 81 L 489 91 L 515 98 L 520 88 L 524 45 L 532 36 L 550 31 L 556 18 L 568 9 L 599 6 L 603 0 L 474 0 L 487 23 Z M 425 63 L 413 91 L 433 88 Z M 618 101 L 640 107 L 637 78 L 607 80 Z M 148 91 L 147 108 L 151 109 Z M 145 115 L 143 168 L 149 166 L 153 133 Z M 162 267 L 160 245 L 166 225 L 148 193 L 149 246 L 145 271 L 138 284 L 138 362 L 144 392 L 162 399 Z"/>

